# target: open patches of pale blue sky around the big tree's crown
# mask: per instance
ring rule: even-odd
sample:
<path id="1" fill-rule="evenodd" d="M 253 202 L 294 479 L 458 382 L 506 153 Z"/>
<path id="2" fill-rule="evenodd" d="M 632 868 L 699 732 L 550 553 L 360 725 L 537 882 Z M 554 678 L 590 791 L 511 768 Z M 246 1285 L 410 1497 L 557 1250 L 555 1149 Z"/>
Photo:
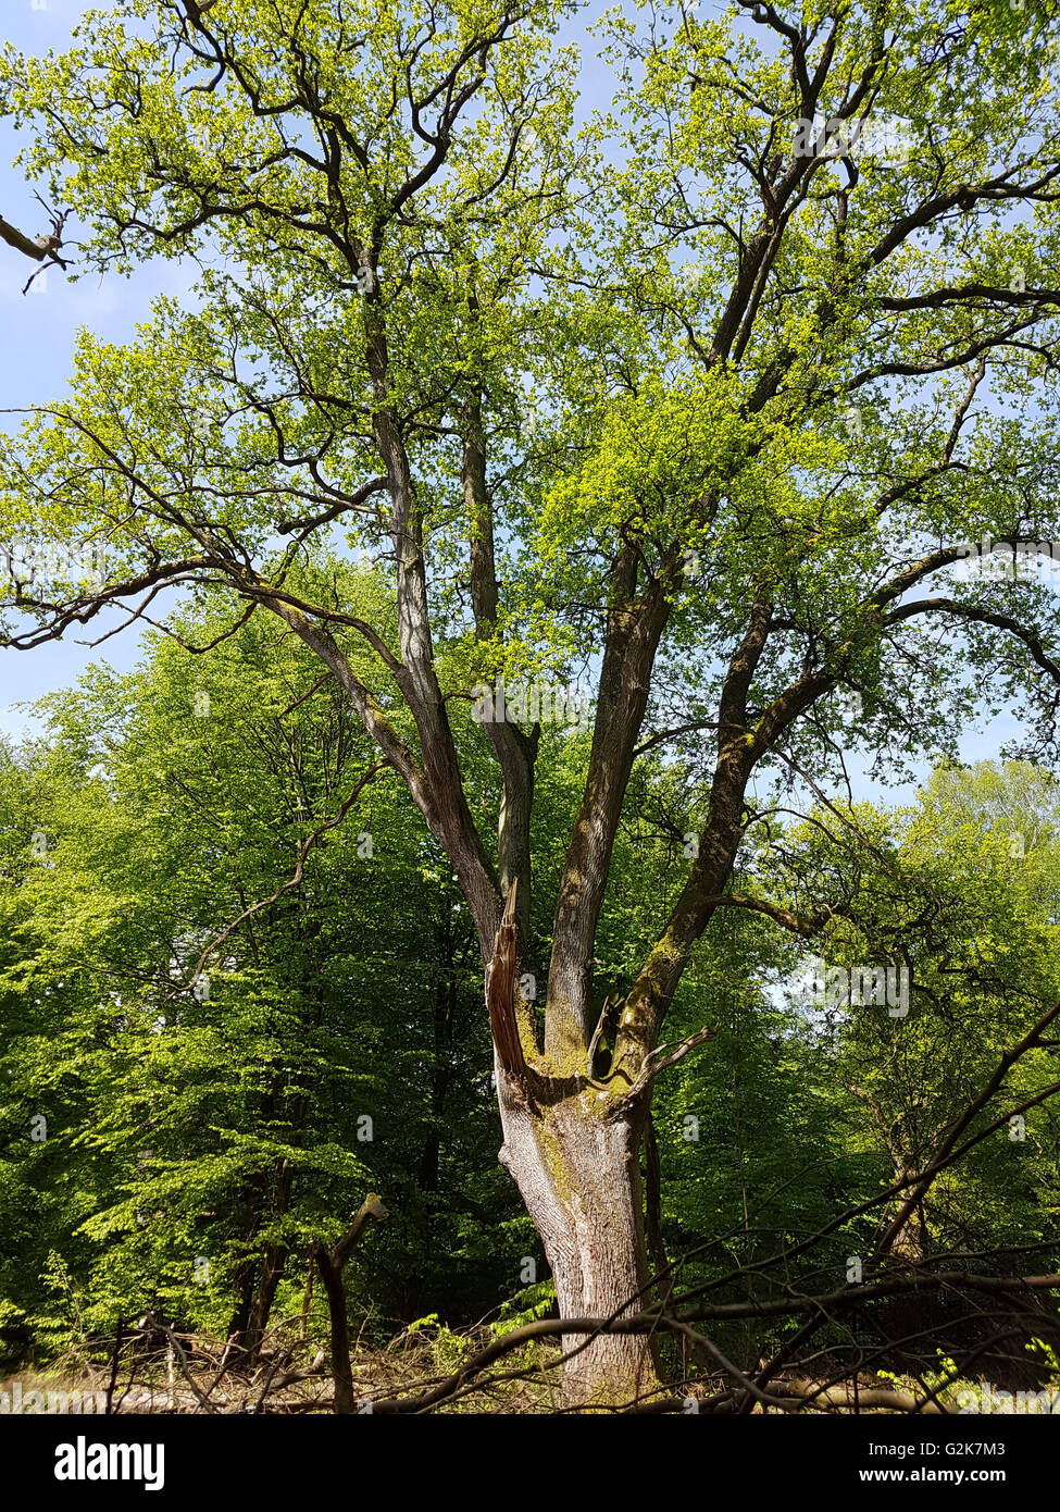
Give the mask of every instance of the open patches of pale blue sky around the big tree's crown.
<path id="1" fill-rule="evenodd" d="M 62 50 L 70 42 L 71 26 L 88 9 L 88 0 L 6 0 L 5 36 L 29 53 Z M 573 38 L 581 32 L 599 9 L 593 6 L 587 20 L 572 24 L 567 35 Z M 603 104 L 608 95 L 606 65 L 594 56 L 599 45 L 587 38 L 582 48 L 585 112 Z M 21 172 L 9 166 L 18 145 L 20 138 L 11 124 L 0 121 L 0 162 L 5 165 L 0 169 L 0 213 L 27 234 L 38 234 L 47 230 L 47 216 Z M 92 275 L 77 283 L 51 269 L 45 281 L 38 278 L 35 290 L 23 295 L 32 266 L 14 249 L 0 246 L 0 319 L 9 352 L 9 360 L 0 366 L 0 408 L 5 410 L 42 404 L 64 392 L 79 327 L 86 325 L 106 340 L 126 340 L 136 322 L 150 314 L 150 302 L 157 293 L 191 292 L 195 281 L 194 266 L 168 262 L 151 263 L 132 278 Z M 11 416 L 5 416 L 5 422 L 15 423 Z M 138 635 L 130 632 L 113 637 L 98 652 L 79 644 L 73 635 L 32 652 L 0 649 L 0 730 L 20 736 L 32 724 L 26 711 L 17 708 L 18 703 L 71 685 L 89 662 L 100 658 L 127 670 L 136 661 L 138 646 Z M 998 721 L 989 729 L 969 730 L 963 741 L 965 759 L 995 754 L 1000 741 L 1013 729 L 1012 721 Z M 872 792 L 860 777 L 860 761 L 851 762 L 859 795 L 891 800 L 900 795 L 901 789 Z"/>

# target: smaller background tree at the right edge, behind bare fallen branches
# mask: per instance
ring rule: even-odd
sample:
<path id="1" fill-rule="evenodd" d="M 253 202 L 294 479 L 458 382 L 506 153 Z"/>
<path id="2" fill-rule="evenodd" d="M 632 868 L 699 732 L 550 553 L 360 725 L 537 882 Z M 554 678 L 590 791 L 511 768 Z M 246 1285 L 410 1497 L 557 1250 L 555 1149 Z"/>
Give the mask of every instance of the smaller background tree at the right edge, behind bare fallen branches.
<path id="1" fill-rule="evenodd" d="M 785 845 L 786 891 L 818 898 L 832 892 L 832 918 L 817 945 L 823 960 L 806 1005 L 814 1037 L 829 1049 L 839 1117 L 856 1142 L 886 1155 L 886 1185 L 909 1182 L 930 1167 L 933 1152 L 1006 1051 L 1057 1001 L 1055 860 L 1049 857 L 1036 874 L 1022 856 L 1010 856 L 1007 830 L 968 823 L 974 782 L 990 785 L 990 776 L 996 774 L 971 779 L 944 768 L 916 809 L 891 815 L 868 806 L 824 810 Z M 1004 810 L 1028 792 L 1040 794 L 1045 780 L 1013 762 L 1006 780 L 990 786 Z M 889 972 L 886 990 L 877 990 L 879 972 Z M 901 992 L 894 990 L 900 974 L 906 977 Z M 1013 1061 L 996 1099 L 1021 1108 L 1028 1078 L 1036 1090 L 1048 1092 L 1054 1084 L 1049 1045 L 1030 1045 Z M 842 1108 L 844 1092 L 853 1108 Z M 990 1099 L 984 1111 L 993 1119 L 1000 1110 Z M 987 1146 L 1001 1146 L 993 1166 L 996 1185 L 1006 1191 L 1001 1226 L 1009 1238 L 1019 1226 L 1018 1185 L 1027 1167 L 1037 1166 L 1031 1158 L 1037 1125 L 1048 1129 L 1051 1111 L 1033 1102 L 1028 1117 L 1030 1145 L 1024 1143 L 1027 1119 L 1016 1116 L 1019 1128 L 1003 1126 Z M 959 1179 L 953 1173 L 925 1188 L 909 1211 L 906 1193 L 897 1196 L 879 1214 L 877 1232 L 866 1235 L 869 1250 L 919 1263 L 928 1247 L 996 1249 L 1001 1235 L 981 1213 L 990 1182 L 975 1178 L 983 1154 L 971 1157 L 971 1169 L 962 1166 Z M 1045 1176 L 1040 1170 L 1036 1176 L 1048 1187 L 1055 1179 L 1048 1149 L 1042 1158 Z M 1040 1187 L 1031 1211 L 1039 1201 Z"/>

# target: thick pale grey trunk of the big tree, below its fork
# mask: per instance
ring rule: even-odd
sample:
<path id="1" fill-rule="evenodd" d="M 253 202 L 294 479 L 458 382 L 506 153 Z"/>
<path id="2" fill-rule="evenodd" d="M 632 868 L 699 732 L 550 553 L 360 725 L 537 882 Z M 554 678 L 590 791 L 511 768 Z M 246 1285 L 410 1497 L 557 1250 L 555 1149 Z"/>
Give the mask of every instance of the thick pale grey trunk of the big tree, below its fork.
<path id="1" fill-rule="evenodd" d="M 596 1092 L 541 1105 L 497 1064 L 501 1163 L 523 1196 L 544 1244 L 559 1317 L 640 1311 L 649 1266 L 640 1179 L 641 1119 L 600 1117 Z M 584 1346 L 584 1347 L 582 1347 Z M 658 1393 L 653 1346 L 644 1334 L 563 1338 L 564 1406 L 626 1406 Z"/>

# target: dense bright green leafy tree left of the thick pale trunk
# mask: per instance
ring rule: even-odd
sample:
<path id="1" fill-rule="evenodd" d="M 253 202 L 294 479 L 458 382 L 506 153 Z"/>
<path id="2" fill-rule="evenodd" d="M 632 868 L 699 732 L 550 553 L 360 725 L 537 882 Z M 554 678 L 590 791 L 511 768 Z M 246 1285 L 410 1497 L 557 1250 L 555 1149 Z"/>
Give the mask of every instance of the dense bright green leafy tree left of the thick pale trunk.
<path id="1" fill-rule="evenodd" d="M 38 714 L 0 767 L 8 1343 L 150 1308 L 253 1358 L 373 1181 L 369 1328 L 493 1306 L 514 1193 L 485 1166 L 473 931 L 316 658 L 275 620 L 204 656 L 156 637 Z"/>

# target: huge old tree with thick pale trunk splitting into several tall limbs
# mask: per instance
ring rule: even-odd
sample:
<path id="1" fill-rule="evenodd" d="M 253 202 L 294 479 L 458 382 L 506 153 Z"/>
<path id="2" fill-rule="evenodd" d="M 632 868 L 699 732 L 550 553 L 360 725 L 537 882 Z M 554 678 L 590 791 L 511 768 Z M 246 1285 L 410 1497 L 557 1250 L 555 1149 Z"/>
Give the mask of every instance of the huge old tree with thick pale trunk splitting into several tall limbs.
<path id="1" fill-rule="evenodd" d="M 1055 26 L 1000 0 L 625 8 L 579 129 L 576 14 L 119 0 L 65 54 L 5 54 L 73 274 L 174 257 L 197 287 L 126 346 L 83 334 L 0 461 L 8 646 L 224 587 L 407 785 L 475 922 L 501 1161 L 569 1320 L 650 1284 L 638 1151 L 655 1078 L 709 1036 L 665 1037 L 705 931 L 827 919 L 733 888 L 753 785 L 829 783 L 856 745 L 907 770 L 1018 700 L 1051 756 L 1060 696 L 1030 570 L 1060 538 Z M 328 541 L 386 567 L 392 612 L 337 573 L 299 591 Z M 566 718 L 572 682 L 591 739 L 543 901 L 528 686 Z M 605 1072 L 594 940 L 649 753 L 685 774 L 687 866 Z M 643 1335 L 567 1346 L 572 1403 L 659 1390 Z"/>

